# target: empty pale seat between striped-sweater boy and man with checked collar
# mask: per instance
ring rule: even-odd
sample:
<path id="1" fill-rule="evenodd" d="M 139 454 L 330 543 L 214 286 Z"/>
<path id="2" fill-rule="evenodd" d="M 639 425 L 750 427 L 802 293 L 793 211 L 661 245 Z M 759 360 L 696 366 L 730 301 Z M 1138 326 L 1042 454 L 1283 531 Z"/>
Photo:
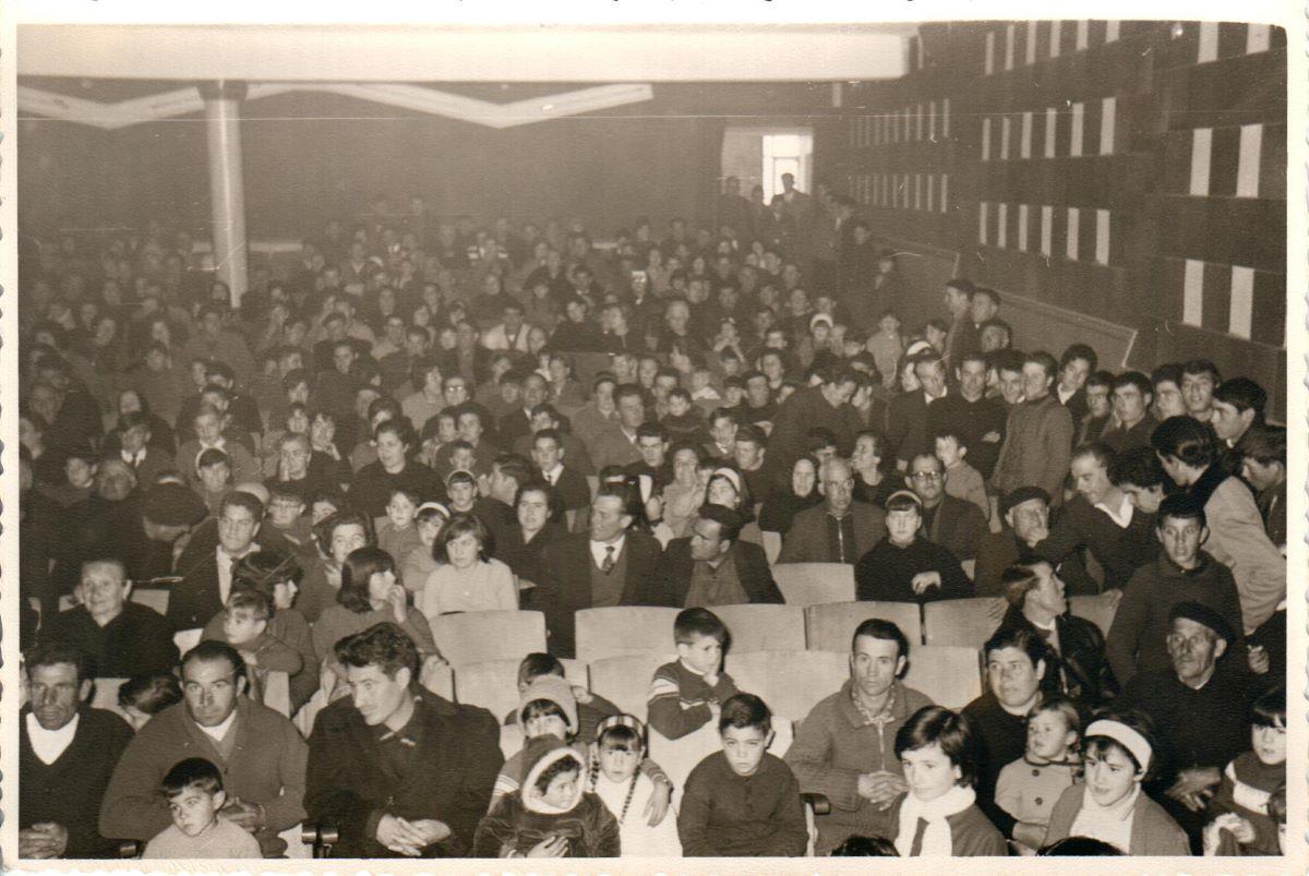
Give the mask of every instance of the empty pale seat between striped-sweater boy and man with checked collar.
<path id="1" fill-rule="evenodd" d="M 774 715 L 801 721 L 850 677 L 850 657 L 831 651 L 755 651 L 728 655 L 726 670 L 738 690 L 763 698 Z"/>

